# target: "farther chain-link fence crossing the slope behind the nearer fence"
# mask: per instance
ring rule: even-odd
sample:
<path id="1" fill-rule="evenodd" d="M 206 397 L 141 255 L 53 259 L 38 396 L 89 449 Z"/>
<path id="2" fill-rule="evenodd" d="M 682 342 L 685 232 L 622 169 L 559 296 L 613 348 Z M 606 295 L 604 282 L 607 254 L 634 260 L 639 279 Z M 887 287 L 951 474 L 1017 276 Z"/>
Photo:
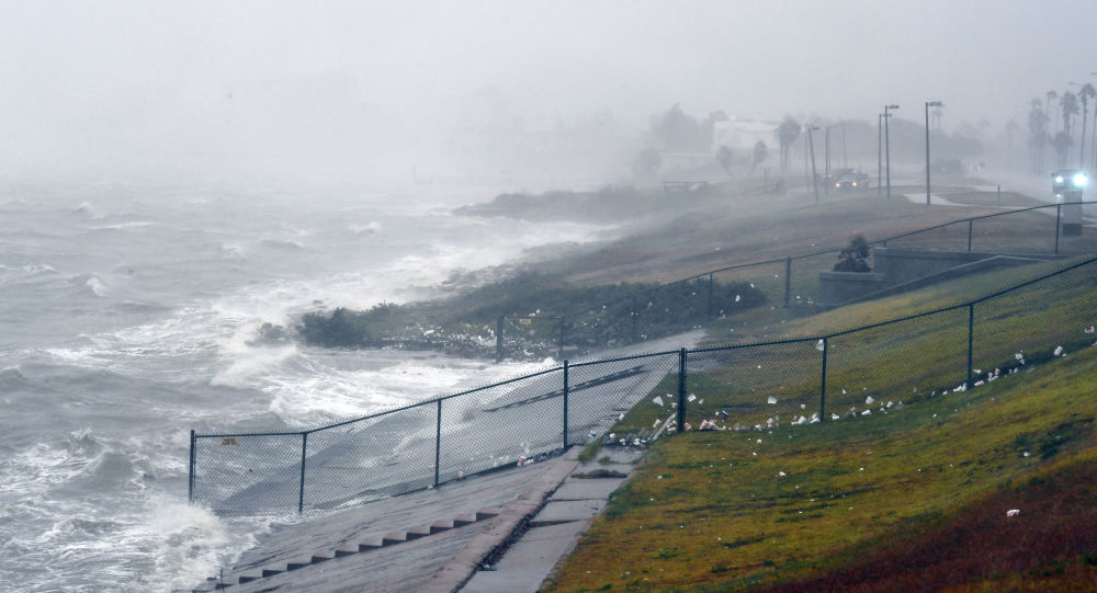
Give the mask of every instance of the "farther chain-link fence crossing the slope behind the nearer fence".
<path id="1" fill-rule="evenodd" d="M 1081 223 L 1094 219 L 1097 203 L 1048 204 L 953 220 L 871 240 L 870 246 L 1010 254 L 1094 253 L 1097 239 L 1081 232 Z M 1074 220 L 1079 223 L 1076 227 L 1072 227 Z M 568 353 L 670 335 L 750 307 L 813 306 L 818 303 L 818 273 L 830 270 L 839 253 L 840 249 L 819 250 L 720 267 L 659 286 L 641 286 L 633 295 L 590 310 L 534 310 L 501 317 L 495 332 L 496 360 L 563 358 Z M 871 265 L 871 252 L 868 261 Z"/>

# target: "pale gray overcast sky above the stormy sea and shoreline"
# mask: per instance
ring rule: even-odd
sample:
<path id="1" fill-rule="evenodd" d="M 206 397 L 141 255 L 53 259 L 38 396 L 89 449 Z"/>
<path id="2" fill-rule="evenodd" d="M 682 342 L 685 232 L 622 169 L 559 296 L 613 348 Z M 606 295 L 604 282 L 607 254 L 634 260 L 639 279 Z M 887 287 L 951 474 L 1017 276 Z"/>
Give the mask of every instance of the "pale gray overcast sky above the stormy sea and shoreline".
<path id="1" fill-rule="evenodd" d="M 485 109 L 1024 125 L 1097 80 L 1095 32 L 1095 0 L 0 0 L 0 174 L 453 171 Z"/>

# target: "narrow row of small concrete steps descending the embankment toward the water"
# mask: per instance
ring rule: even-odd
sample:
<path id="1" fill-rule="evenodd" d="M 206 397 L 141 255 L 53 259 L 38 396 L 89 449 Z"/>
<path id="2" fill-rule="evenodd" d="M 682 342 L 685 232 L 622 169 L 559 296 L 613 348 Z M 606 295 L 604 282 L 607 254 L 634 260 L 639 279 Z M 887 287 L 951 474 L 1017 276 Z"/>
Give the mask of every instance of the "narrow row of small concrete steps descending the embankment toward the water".
<path id="1" fill-rule="evenodd" d="M 406 529 L 397 529 L 386 532 L 381 535 L 365 536 L 359 538 L 354 544 L 344 545 L 337 549 L 320 550 L 289 561 L 273 562 L 270 566 L 252 568 L 239 574 L 229 574 L 224 579 L 211 577 L 206 579 L 205 583 L 199 588 L 191 589 L 190 591 L 191 593 L 208 593 L 211 591 L 222 591 L 236 585 L 252 583 L 261 579 L 268 579 L 284 572 L 301 570 L 306 567 L 327 562 L 329 560 L 338 560 L 348 556 L 364 554 L 378 548 L 396 546 L 406 541 L 429 537 L 456 527 L 464 527 L 466 525 L 472 525 L 473 523 L 494 518 L 500 513 L 502 513 L 501 509 L 485 506 L 475 513 L 462 513 L 455 515 L 453 518 L 438 520 L 430 524 L 412 525 Z"/>

